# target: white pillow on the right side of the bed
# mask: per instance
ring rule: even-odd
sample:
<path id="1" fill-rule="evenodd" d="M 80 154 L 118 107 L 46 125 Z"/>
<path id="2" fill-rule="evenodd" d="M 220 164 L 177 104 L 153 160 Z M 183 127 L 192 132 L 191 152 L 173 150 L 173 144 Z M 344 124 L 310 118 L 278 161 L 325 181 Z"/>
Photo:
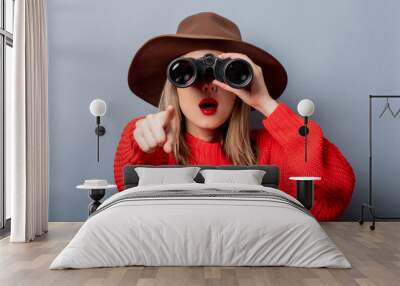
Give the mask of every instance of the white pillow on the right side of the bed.
<path id="1" fill-rule="evenodd" d="M 247 185 L 261 185 L 265 171 L 262 170 L 218 170 L 205 169 L 200 174 L 204 183 L 235 183 Z"/>

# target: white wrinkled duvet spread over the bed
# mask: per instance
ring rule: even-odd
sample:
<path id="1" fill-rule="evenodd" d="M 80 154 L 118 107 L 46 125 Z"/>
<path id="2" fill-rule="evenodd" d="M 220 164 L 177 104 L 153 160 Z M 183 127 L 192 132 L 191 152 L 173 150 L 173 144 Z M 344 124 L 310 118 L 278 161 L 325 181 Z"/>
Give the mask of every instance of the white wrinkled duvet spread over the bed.
<path id="1" fill-rule="evenodd" d="M 262 197 L 129 199 L 144 192 L 262 191 Z M 283 200 L 274 199 L 281 197 Z M 319 223 L 284 192 L 239 184 L 138 186 L 108 198 L 50 269 L 146 266 L 350 268 Z"/>

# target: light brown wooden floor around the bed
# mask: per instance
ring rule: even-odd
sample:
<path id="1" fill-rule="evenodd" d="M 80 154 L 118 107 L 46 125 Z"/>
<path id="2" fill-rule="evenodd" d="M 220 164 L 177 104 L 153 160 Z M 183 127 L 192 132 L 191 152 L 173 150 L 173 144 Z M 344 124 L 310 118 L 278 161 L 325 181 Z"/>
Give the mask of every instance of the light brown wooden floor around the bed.
<path id="1" fill-rule="evenodd" d="M 400 222 L 322 223 L 352 269 L 290 267 L 120 267 L 48 270 L 81 223 L 50 223 L 32 242 L 0 241 L 0 285 L 400 285 Z"/>

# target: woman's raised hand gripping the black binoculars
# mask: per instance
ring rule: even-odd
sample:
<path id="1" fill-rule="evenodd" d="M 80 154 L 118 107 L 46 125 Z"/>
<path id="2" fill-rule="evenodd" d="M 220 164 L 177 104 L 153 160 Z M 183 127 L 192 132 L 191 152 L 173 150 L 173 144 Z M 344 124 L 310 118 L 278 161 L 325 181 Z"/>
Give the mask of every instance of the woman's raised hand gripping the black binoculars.
<path id="1" fill-rule="evenodd" d="M 278 106 L 278 102 L 274 100 L 264 82 L 264 76 L 261 67 L 256 65 L 248 56 L 239 53 L 223 53 L 218 55 L 220 58 L 240 58 L 247 61 L 253 68 L 253 80 L 250 90 L 233 88 L 218 80 L 213 80 L 213 84 L 230 91 L 239 96 L 245 103 L 260 111 L 264 116 L 270 115 Z"/>

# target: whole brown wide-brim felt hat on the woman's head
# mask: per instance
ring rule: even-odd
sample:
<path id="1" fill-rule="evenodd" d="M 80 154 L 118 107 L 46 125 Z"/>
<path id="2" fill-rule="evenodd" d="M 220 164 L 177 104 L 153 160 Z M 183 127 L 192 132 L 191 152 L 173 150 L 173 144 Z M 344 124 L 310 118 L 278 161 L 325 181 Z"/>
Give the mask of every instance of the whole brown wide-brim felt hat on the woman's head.
<path id="1" fill-rule="evenodd" d="M 182 20 L 176 34 L 157 36 L 144 43 L 129 67 L 129 88 L 158 106 L 168 64 L 183 54 L 203 49 L 246 54 L 262 68 L 272 98 L 277 99 L 285 90 L 287 74 L 282 64 L 268 52 L 242 41 L 235 23 L 211 12 L 191 15 Z"/>

